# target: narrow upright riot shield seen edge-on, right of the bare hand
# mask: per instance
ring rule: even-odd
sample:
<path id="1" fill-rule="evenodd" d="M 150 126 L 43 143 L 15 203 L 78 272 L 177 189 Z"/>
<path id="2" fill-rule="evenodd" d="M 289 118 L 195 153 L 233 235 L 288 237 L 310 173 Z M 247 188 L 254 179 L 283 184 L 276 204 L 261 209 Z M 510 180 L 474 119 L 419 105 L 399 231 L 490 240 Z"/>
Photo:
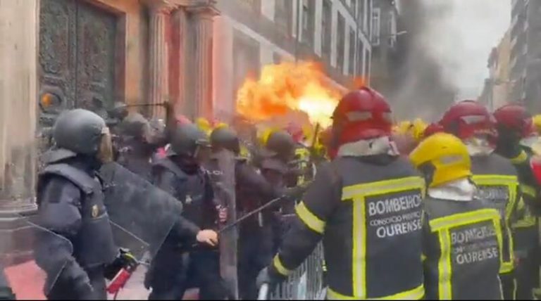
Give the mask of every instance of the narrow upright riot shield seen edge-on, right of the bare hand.
<path id="1" fill-rule="evenodd" d="M 227 208 L 228 223 L 237 220 L 235 202 L 235 162 L 237 158 L 231 151 L 221 150 L 213 153 L 209 162 L 209 173 L 213 183 L 214 195 L 218 203 Z M 221 224 L 222 227 L 227 224 Z M 237 286 L 237 227 L 220 233 L 220 274 L 228 285 L 230 293 L 238 298 Z"/>

